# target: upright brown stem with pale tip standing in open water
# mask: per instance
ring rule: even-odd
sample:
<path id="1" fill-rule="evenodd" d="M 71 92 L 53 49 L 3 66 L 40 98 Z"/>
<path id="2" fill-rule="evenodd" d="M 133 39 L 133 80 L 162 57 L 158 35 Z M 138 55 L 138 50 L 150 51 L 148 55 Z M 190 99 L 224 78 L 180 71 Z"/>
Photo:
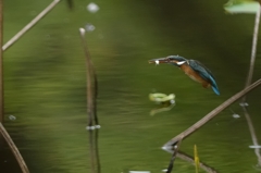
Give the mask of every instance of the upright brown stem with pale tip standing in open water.
<path id="1" fill-rule="evenodd" d="M 86 58 L 86 77 L 87 77 L 87 113 L 88 113 L 88 126 L 92 126 L 92 121 L 96 125 L 99 125 L 98 116 L 96 114 L 96 99 L 97 99 L 97 77 L 95 73 L 94 64 L 90 60 L 90 54 L 87 49 L 87 44 L 85 40 L 85 29 L 79 28 L 80 38 L 84 47 L 85 58 Z"/>

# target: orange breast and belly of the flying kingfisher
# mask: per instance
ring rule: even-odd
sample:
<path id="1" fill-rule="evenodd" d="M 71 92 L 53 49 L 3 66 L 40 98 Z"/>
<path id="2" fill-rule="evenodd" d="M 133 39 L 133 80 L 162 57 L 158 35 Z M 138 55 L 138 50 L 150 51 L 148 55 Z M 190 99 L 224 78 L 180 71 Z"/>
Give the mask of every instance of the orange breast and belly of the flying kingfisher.
<path id="1" fill-rule="evenodd" d="M 188 64 L 181 65 L 181 69 L 185 72 L 186 75 L 188 75 L 191 79 L 195 82 L 198 82 L 202 84 L 204 88 L 210 87 L 210 83 L 202 78 L 196 71 L 194 71 Z"/>

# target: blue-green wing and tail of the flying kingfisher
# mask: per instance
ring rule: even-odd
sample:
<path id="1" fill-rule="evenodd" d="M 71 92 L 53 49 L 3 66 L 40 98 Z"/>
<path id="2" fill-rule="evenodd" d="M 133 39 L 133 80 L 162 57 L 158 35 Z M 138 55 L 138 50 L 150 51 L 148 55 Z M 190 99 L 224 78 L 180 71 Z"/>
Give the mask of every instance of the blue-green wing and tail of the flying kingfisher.
<path id="1" fill-rule="evenodd" d="M 216 95 L 220 95 L 219 87 L 215 83 L 212 72 L 208 67 L 206 67 L 202 63 L 200 63 L 199 61 L 189 60 L 188 63 L 189 63 L 189 66 L 192 70 L 195 70 L 196 72 L 198 72 L 201 77 L 209 81 L 214 92 Z"/>

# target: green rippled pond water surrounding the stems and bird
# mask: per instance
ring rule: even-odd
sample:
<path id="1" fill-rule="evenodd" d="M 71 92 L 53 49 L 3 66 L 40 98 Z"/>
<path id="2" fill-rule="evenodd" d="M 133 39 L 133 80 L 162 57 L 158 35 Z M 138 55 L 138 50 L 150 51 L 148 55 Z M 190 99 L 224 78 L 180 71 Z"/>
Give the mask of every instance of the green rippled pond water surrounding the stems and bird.
<path id="1" fill-rule="evenodd" d="M 51 1 L 4 1 L 4 42 Z M 60 2 L 32 30 L 4 52 L 4 126 L 33 173 L 90 172 L 86 114 L 86 69 L 78 28 L 87 33 L 98 75 L 99 158 L 101 172 L 161 172 L 171 155 L 163 144 L 243 89 L 249 69 L 254 15 L 225 14 L 226 1 L 75 1 Z M 260 78 L 260 49 L 253 81 Z M 196 59 L 215 75 L 221 96 L 192 82 L 171 65 L 149 59 L 179 54 Z M 176 106 L 150 116 L 152 91 L 175 94 Z M 261 89 L 248 97 L 259 140 Z M 258 159 L 238 102 L 186 138 L 181 150 L 224 173 L 250 173 Z M 15 121 L 9 119 L 16 118 Z M 260 141 L 261 143 L 261 141 Z M 20 172 L 8 148 L 1 150 L 3 173 Z M 176 159 L 174 172 L 195 172 Z M 203 172 L 200 170 L 200 172 Z"/>

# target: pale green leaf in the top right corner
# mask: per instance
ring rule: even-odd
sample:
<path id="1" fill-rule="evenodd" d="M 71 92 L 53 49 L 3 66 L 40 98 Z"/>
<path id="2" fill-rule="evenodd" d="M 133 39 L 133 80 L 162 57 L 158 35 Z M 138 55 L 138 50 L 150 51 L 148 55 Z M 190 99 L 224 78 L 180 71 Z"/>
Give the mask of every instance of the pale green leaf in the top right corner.
<path id="1" fill-rule="evenodd" d="M 249 13 L 256 14 L 260 9 L 260 3 L 253 0 L 229 0 L 224 9 L 226 12 L 236 13 Z"/>

